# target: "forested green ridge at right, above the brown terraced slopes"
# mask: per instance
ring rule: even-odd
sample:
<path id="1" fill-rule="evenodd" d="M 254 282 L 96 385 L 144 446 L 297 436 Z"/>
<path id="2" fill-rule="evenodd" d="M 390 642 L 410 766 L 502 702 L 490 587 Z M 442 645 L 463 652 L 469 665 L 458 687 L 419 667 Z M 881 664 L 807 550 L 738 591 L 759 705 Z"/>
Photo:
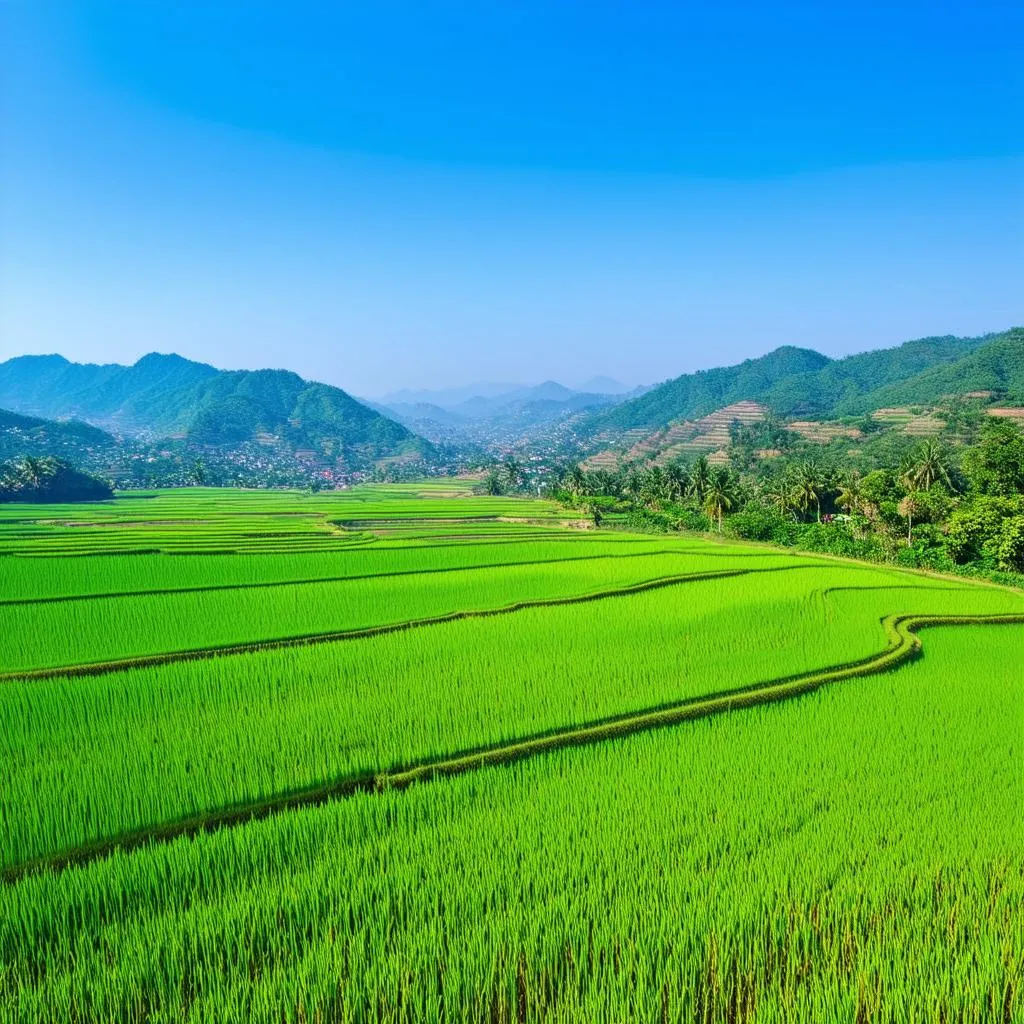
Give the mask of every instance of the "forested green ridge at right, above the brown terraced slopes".
<path id="1" fill-rule="evenodd" d="M 582 428 L 587 433 L 657 429 L 744 399 L 783 417 L 824 417 L 951 393 L 1019 390 L 1022 352 L 1019 328 L 980 338 L 922 338 L 844 359 L 785 346 L 738 366 L 666 381 L 589 417 Z"/>

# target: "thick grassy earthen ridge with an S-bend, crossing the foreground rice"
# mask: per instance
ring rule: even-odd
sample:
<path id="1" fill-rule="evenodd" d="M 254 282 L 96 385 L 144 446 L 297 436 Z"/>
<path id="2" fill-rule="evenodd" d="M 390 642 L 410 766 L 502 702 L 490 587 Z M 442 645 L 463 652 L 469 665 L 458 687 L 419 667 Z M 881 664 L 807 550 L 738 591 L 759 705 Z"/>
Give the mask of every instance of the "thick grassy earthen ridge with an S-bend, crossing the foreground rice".
<path id="1" fill-rule="evenodd" d="M 564 603 L 564 601 L 559 600 L 554 603 Z M 465 614 L 462 613 L 462 616 Z M 0 872 L 0 879 L 9 884 L 37 871 L 59 871 L 74 865 L 97 860 L 116 851 L 129 852 L 152 843 L 167 843 L 185 836 L 241 825 L 282 811 L 311 807 L 356 793 L 402 790 L 416 782 L 429 782 L 436 778 L 460 775 L 477 768 L 509 764 L 537 754 L 545 754 L 566 746 L 601 742 L 635 732 L 675 725 L 691 719 L 707 718 L 712 715 L 720 715 L 723 712 L 786 700 L 810 693 L 829 683 L 876 675 L 908 662 L 921 650 L 921 638 L 918 636 L 918 632 L 922 629 L 934 626 L 1020 626 L 1024 625 L 1024 614 L 888 615 L 882 620 L 882 625 L 888 637 L 886 647 L 879 653 L 858 662 L 849 662 L 813 673 L 773 679 L 740 689 L 664 705 L 616 718 L 603 719 L 589 725 L 524 737 L 511 743 L 496 744 L 425 761 L 407 768 L 328 782 L 246 805 L 211 811 L 203 815 L 138 829 L 116 839 L 14 864 L 5 867 Z"/>

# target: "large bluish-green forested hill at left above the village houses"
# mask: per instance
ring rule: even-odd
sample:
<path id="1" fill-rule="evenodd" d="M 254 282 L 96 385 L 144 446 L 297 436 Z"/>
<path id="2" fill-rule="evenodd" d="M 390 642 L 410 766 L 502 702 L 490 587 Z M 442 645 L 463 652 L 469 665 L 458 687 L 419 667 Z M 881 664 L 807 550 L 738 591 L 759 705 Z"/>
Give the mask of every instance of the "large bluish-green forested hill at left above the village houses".
<path id="1" fill-rule="evenodd" d="M 10 359 L 0 364 L 0 407 L 198 444 L 262 439 L 345 456 L 352 465 L 430 450 L 340 388 L 285 370 L 221 371 L 178 355 L 151 353 L 131 367 L 59 355 Z"/>

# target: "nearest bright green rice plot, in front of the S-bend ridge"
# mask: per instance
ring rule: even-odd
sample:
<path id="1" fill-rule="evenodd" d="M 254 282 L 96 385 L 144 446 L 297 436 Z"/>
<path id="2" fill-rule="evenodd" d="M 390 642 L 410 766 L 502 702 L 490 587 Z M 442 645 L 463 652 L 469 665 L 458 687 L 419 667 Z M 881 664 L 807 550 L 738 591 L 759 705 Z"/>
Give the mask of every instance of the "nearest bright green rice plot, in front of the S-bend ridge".
<path id="1" fill-rule="evenodd" d="M 0 1013 L 1017 1020 L 1021 642 L 27 879 Z"/>

